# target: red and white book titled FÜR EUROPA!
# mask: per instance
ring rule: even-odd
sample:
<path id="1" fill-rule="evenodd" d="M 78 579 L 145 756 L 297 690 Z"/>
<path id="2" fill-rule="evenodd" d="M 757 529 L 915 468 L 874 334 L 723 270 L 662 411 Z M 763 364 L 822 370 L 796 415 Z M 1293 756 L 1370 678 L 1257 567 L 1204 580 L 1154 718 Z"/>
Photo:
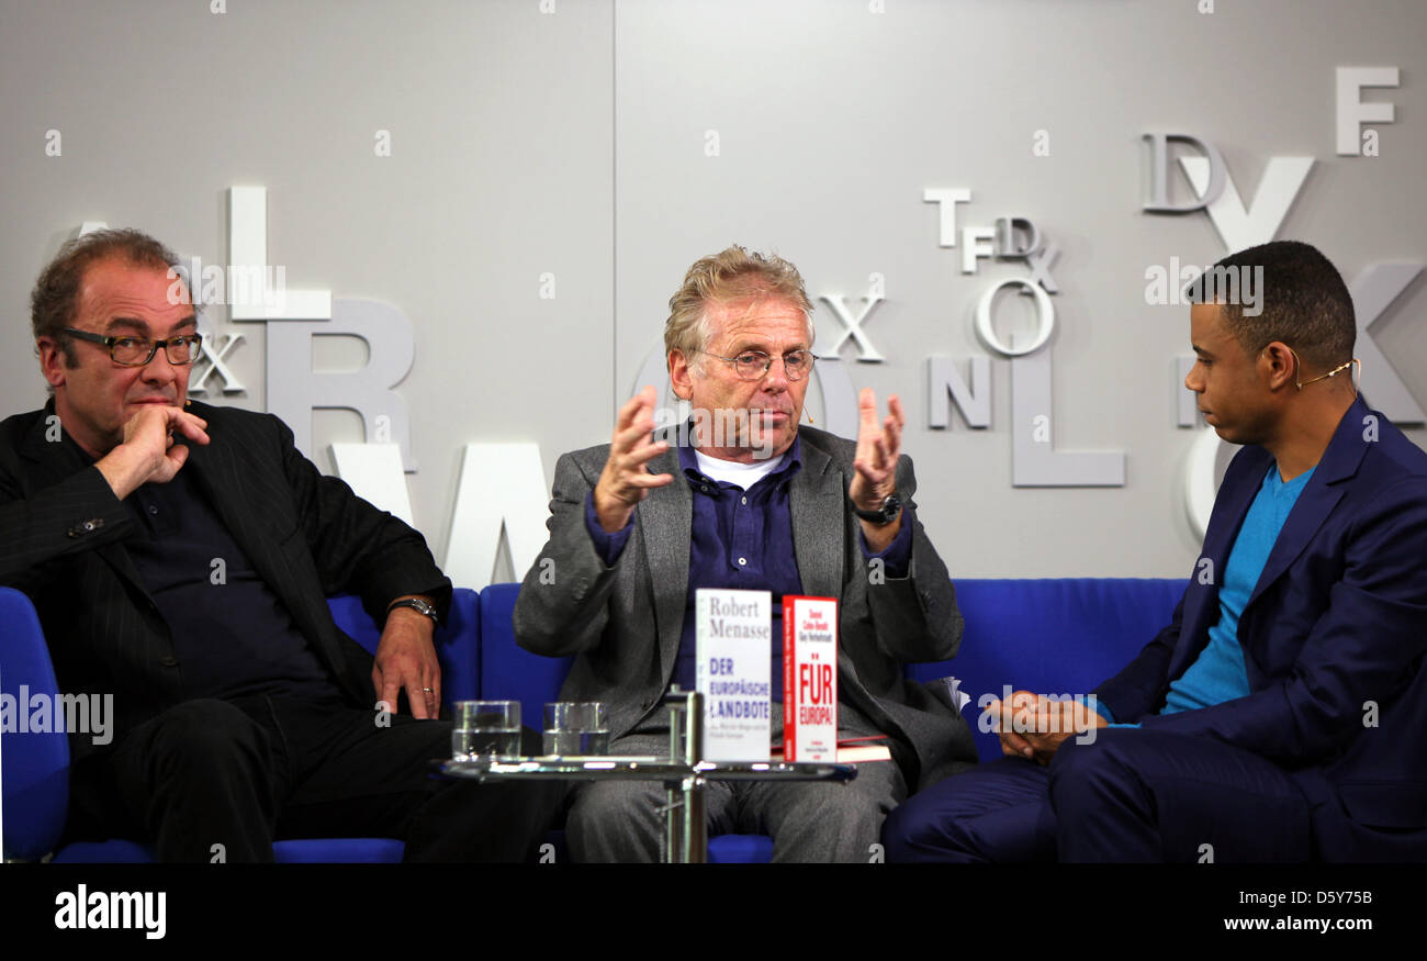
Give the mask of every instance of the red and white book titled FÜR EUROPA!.
<path id="1" fill-rule="evenodd" d="M 838 601 L 783 597 L 783 757 L 838 760 Z"/>

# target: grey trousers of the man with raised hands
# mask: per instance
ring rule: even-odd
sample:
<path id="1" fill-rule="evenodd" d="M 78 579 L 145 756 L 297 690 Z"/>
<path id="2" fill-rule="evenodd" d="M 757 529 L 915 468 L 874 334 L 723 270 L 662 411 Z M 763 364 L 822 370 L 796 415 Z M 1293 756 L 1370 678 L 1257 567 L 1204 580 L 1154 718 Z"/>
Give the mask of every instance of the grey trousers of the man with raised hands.
<path id="1" fill-rule="evenodd" d="M 773 738 L 782 737 L 782 704 L 773 704 Z M 845 705 L 838 737 L 875 734 Z M 850 723 L 850 727 L 848 727 Z M 669 755 L 669 730 L 645 723 L 611 743 L 611 754 Z M 880 861 L 882 821 L 906 798 L 895 761 L 858 764 L 848 784 L 711 781 L 705 790 L 709 837 L 768 834 L 775 862 Z M 581 862 L 649 862 L 664 855 L 664 785 L 648 781 L 591 781 L 579 787 L 565 832 Z M 878 845 L 878 847 L 873 847 Z"/>

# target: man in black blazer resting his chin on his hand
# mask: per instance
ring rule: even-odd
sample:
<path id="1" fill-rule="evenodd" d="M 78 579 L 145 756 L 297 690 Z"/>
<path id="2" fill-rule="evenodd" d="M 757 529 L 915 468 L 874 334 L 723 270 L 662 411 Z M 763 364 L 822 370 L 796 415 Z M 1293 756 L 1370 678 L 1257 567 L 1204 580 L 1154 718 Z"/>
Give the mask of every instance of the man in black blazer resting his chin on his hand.
<path id="1" fill-rule="evenodd" d="M 34 601 L 61 691 L 113 695 L 108 743 L 70 733 L 64 841 L 528 857 L 558 785 L 428 777 L 451 744 L 432 647 L 451 583 L 278 418 L 188 401 L 203 341 L 176 263 L 133 230 L 66 244 L 31 298 L 53 397 L 0 424 L 0 584 Z M 375 658 L 332 621 L 342 591 L 382 624 Z"/>

